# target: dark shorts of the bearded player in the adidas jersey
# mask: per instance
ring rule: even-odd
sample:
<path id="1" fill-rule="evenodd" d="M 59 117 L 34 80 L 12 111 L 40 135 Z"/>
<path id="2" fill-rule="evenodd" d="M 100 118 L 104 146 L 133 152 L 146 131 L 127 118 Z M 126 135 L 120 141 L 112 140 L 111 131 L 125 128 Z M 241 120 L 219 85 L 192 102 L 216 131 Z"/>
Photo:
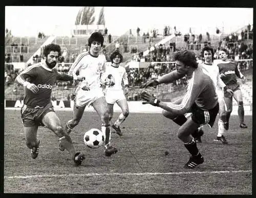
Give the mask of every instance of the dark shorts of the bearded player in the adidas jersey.
<path id="1" fill-rule="evenodd" d="M 49 103 L 42 108 L 23 105 L 22 109 L 20 109 L 20 113 L 22 114 L 23 126 L 44 126 L 44 124 L 42 123 L 42 118 L 44 118 L 44 116 L 51 111 L 54 112 L 52 103 Z"/>

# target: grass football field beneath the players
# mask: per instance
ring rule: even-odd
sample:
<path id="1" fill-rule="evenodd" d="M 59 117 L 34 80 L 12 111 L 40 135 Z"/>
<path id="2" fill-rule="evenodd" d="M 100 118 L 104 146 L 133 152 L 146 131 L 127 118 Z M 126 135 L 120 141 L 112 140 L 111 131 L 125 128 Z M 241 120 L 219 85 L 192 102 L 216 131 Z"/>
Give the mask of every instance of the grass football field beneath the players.
<path id="1" fill-rule="evenodd" d="M 56 113 L 63 126 L 72 117 L 72 111 Z M 86 159 L 75 167 L 68 152 L 59 151 L 57 136 L 42 127 L 39 155 L 32 159 L 20 110 L 5 109 L 4 193 L 252 194 L 252 115 L 245 123 L 248 128 L 240 129 L 238 116 L 231 115 L 228 144 L 213 141 L 217 121 L 212 129 L 205 126 L 198 143 L 205 161 L 185 169 L 189 153 L 176 135 L 178 125 L 162 114 L 130 113 L 123 136 L 111 136 L 118 152 L 106 157 L 103 146 L 90 149 L 83 143 L 86 131 L 101 128 L 95 112 L 84 112 L 71 138 Z"/>

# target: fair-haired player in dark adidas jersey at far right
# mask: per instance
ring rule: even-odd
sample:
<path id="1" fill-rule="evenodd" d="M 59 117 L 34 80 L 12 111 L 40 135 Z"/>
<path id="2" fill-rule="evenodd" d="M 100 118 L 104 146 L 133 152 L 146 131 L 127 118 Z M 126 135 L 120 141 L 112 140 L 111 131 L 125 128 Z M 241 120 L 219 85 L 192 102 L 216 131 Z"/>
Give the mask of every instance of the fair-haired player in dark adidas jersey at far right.
<path id="1" fill-rule="evenodd" d="M 245 77 L 242 75 L 238 66 L 228 60 L 228 52 L 225 49 L 221 49 L 219 51 L 219 57 L 221 58 L 221 62 L 218 63 L 221 80 L 226 84 L 227 88 L 233 91 L 233 94 L 224 91 L 224 100 L 227 106 L 227 122 L 225 124 L 225 129 L 227 130 L 229 128 L 229 118 L 232 112 L 233 97 L 234 100 L 236 100 L 238 103 L 238 116 L 240 121 L 240 128 L 247 128 L 247 126 L 244 123 L 244 106 L 242 92 L 239 83 L 237 82 L 237 76 L 240 79 L 243 79 L 243 83 L 245 82 Z"/>

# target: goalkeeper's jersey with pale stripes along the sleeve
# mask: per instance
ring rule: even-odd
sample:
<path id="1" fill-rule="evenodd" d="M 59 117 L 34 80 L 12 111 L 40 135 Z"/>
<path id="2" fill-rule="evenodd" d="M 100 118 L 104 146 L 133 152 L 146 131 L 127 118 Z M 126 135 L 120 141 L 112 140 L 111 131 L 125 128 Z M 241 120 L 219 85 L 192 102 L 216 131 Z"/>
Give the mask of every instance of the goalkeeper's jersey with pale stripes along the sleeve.
<path id="1" fill-rule="evenodd" d="M 184 114 L 194 103 L 202 110 L 210 110 L 218 104 L 214 82 L 203 72 L 201 66 L 195 69 L 192 77 L 188 80 L 187 90 L 182 101 L 171 103 L 168 107 L 172 108 L 173 112 Z"/>

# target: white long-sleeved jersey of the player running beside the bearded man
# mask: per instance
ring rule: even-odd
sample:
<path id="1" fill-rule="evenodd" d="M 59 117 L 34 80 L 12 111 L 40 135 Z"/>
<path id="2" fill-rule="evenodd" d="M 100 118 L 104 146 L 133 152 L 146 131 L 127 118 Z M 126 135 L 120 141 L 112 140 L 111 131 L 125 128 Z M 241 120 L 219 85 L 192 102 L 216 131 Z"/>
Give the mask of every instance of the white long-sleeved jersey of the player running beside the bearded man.
<path id="1" fill-rule="evenodd" d="M 86 77 L 86 82 L 91 90 L 99 89 L 102 83 L 100 77 L 105 72 L 105 66 L 105 55 L 99 54 L 98 57 L 95 57 L 90 52 L 83 52 L 76 58 L 68 74 L 76 77 L 76 72 L 79 71 L 79 75 Z"/>

